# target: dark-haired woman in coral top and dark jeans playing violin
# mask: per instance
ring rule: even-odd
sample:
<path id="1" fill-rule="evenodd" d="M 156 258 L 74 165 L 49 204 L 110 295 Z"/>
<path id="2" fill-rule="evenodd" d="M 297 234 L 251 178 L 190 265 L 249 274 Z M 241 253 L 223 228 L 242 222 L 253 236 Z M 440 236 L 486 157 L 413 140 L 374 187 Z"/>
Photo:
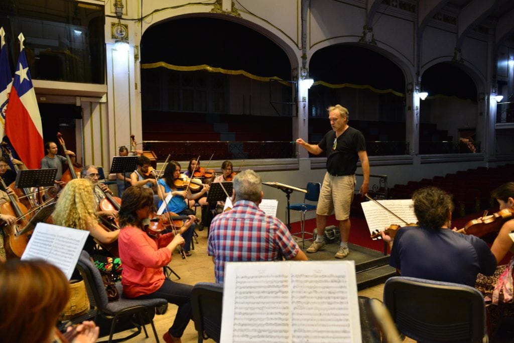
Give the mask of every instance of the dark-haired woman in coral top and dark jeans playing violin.
<path id="1" fill-rule="evenodd" d="M 172 252 L 184 240 L 179 233 L 147 234 L 144 220 L 151 215 L 154 200 L 148 188 L 130 187 L 123 193 L 120 208 L 119 250 L 123 260 L 123 296 L 135 299 L 164 298 L 178 305 L 173 325 L 162 337 L 167 343 L 180 342 L 192 318 L 192 286 L 164 277 L 163 267 Z M 194 216 L 185 221 L 180 231 L 187 230 Z"/>

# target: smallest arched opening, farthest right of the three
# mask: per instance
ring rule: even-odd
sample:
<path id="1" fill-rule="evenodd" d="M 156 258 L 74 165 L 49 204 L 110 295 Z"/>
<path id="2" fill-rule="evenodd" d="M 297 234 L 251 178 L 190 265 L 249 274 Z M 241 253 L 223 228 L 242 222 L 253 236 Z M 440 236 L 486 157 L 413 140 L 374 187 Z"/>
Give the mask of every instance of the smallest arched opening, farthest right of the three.
<path id="1" fill-rule="evenodd" d="M 480 152 L 473 79 L 453 63 L 438 63 L 423 73 L 421 91 L 429 96 L 419 106 L 419 153 Z"/>

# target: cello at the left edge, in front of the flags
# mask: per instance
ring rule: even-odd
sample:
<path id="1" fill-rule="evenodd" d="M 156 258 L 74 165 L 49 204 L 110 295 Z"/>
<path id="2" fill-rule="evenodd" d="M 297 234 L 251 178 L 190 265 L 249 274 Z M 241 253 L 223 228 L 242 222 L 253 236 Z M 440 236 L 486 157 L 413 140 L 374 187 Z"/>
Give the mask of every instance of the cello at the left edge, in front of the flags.
<path id="1" fill-rule="evenodd" d="M 0 184 L 7 190 L 7 185 L 2 177 L 0 177 Z M 16 233 L 23 230 L 28 224 L 28 220 L 25 218 L 28 210 L 25 205 L 17 202 L 13 195 L 9 193 L 7 195 L 9 196 L 9 202 L 0 205 L 0 212 L 4 215 L 13 215 L 16 219 L 20 219 L 4 228 L 5 252 L 7 258 L 20 258 L 27 247 L 29 237 L 28 232 L 20 235 L 16 235 Z"/>

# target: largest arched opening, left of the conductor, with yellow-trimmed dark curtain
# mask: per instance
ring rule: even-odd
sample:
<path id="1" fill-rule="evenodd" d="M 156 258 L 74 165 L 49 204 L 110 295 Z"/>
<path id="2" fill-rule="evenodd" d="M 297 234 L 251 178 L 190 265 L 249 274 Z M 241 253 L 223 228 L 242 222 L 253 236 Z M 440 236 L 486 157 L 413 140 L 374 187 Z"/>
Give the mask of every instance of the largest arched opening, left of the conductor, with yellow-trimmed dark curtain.
<path id="1" fill-rule="evenodd" d="M 141 41 L 143 140 L 173 141 L 152 150 L 176 159 L 292 157 L 290 143 L 248 142 L 292 139 L 289 80 L 286 52 L 247 26 L 215 17 L 160 23 Z"/>

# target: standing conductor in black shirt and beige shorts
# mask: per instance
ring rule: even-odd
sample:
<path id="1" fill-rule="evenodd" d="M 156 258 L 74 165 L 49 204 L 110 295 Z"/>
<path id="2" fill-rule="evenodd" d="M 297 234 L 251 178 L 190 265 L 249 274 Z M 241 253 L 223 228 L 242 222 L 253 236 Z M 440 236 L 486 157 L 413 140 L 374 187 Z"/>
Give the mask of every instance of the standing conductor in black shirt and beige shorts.
<path id="1" fill-rule="evenodd" d="M 348 256 L 348 237 L 350 237 L 350 206 L 352 205 L 355 189 L 355 170 L 360 159 L 364 180 L 360 187 L 362 195 L 368 193 L 370 184 L 370 163 L 366 153 L 364 135 L 348 126 L 348 110 L 341 105 L 328 107 L 328 119 L 332 131 L 325 134 L 317 144 L 309 144 L 302 138 L 296 143 L 303 146 L 311 154 L 319 155 L 326 152 L 326 174 L 321 186 L 321 193 L 316 210 L 316 226 L 318 236 L 307 252 L 316 252 L 325 247 L 323 235 L 326 221 L 332 211 L 336 214 L 341 231 L 341 246 L 335 258 L 342 259 Z"/>

